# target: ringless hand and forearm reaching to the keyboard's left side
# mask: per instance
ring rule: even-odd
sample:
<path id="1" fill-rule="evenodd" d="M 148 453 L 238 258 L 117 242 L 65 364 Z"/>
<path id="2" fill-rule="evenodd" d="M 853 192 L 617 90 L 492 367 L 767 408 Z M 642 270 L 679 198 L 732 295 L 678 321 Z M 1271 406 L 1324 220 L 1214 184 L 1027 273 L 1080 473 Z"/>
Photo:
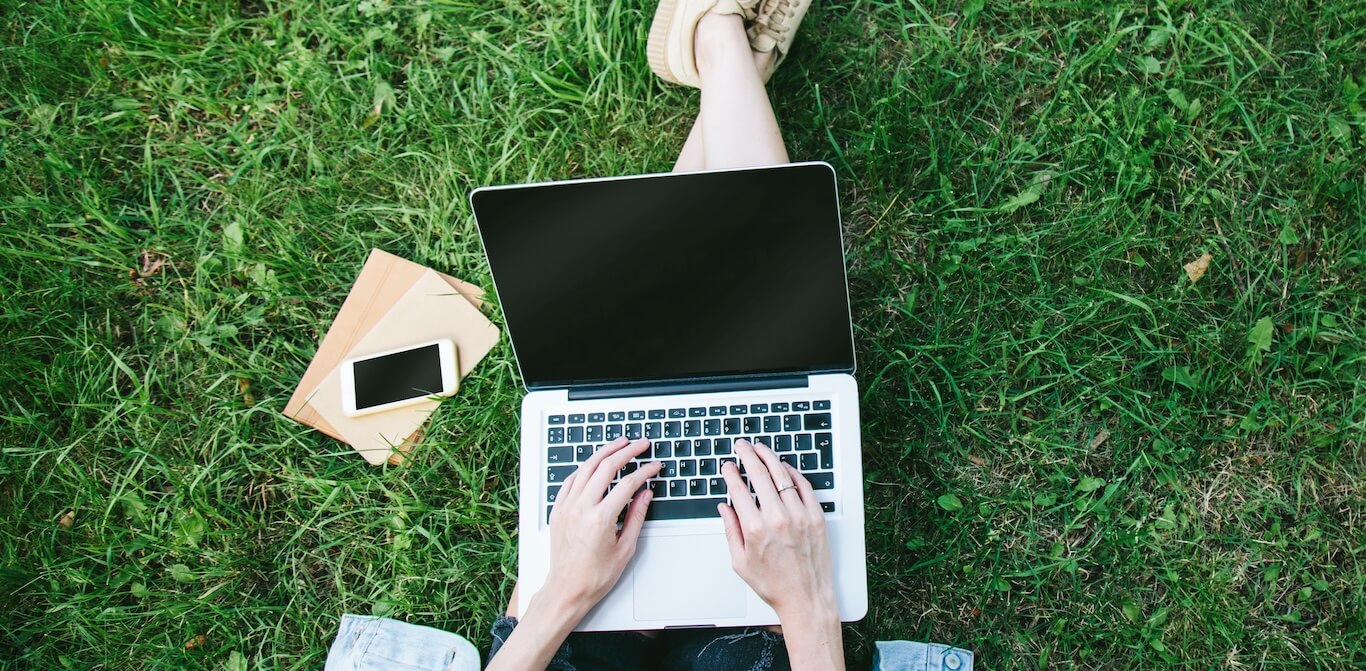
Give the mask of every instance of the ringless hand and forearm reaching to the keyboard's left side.
<path id="1" fill-rule="evenodd" d="M 616 487 L 612 478 L 649 447 L 647 440 L 613 440 L 564 480 L 550 512 L 550 574 L 486 671 L 545 668 L 570 631 L 622 578 L 650 506 L 650 491 L 637 489 L 660 471 L 660 462 L 642 466 Z M 617 530 L 622 508 L 627 508 L 626 522 Z"/>

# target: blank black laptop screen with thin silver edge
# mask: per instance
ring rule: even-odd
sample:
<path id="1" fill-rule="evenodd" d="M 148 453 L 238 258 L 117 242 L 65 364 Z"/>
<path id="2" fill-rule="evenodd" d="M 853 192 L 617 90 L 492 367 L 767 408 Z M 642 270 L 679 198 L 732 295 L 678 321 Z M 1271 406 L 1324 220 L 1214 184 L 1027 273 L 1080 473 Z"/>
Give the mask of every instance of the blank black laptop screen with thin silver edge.
<path id="1" fill-rule="evenodd" d="M 481 189 L 471 202 L 529 388 L 854 369 L 826 164 Z"/>

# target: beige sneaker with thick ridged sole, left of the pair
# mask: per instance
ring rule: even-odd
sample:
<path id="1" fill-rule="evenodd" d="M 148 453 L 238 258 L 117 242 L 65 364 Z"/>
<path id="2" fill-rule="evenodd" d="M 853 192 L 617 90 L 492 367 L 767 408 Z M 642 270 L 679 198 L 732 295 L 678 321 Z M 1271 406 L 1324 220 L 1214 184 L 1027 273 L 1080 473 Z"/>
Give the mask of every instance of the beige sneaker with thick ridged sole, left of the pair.
<path id="1" fill-rule="evenodd" d="M 701 87 L 693 41 L 697 22 L 706 12 L 738 14 L 749 20 L 759 0 L 660 0 L 650 23 L 650 41 L 645 48 L 650 70 L 665 82 Z"/>

